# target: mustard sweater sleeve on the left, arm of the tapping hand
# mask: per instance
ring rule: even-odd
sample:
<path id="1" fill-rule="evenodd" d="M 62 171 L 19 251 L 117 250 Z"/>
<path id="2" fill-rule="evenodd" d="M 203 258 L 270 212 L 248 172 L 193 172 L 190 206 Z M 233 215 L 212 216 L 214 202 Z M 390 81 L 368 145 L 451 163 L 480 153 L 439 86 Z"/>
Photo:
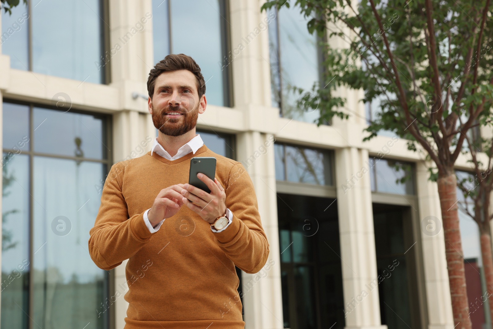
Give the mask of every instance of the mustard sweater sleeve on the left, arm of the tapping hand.
<path id="1" fill-rule="evenodd" d="M 154 234 L 145 225 L 144 212 L 129 218 L 119 176 L 121 167 L 118 163 L 111 166 L 96 222 L 89 231 L 89 254 L 94 263 L 105 270 L 137 254 Z"/>

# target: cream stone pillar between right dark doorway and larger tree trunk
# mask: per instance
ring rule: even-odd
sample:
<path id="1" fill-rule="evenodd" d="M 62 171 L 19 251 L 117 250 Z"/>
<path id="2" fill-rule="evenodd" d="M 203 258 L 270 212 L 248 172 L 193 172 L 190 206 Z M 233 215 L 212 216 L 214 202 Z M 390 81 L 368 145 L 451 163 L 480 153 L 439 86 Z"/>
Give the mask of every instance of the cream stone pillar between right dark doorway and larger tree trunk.
<path id="1" fill-rule="evenodd" d="M 428 164 L 431 165 L 431 164 Z M 452 329 L 454 320 L 450 296 L 449 275 L 445 258 L 445 238 L 443 232 L 440 198 L 436 183 L 428 180 L 429 173 L 423 162 L 416 164 L 416 183 L 420 221 L 433 225 L 429 230 L 421 229 L 423 244 L 424 280 L 428 305 L 428 329 Z M 438 228 L 440 225 L 440 228 Z"/>

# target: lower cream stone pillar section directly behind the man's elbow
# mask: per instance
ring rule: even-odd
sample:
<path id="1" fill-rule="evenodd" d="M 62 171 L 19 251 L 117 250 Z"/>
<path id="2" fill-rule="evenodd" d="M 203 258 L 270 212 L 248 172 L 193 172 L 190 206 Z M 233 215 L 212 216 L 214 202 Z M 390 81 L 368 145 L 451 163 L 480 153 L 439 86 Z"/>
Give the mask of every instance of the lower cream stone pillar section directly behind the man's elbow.
<path id="1" fill-rule="evenodd" d="M 274 172 L 274 144 L 259 147 L 272 141 L 272 135 L 257 131 L 237 135 L 237 160 L 242 162 L 255 187 L 262 226 L 269 241 L 270 252 L 264 270 L 259 274 L 243 273 L 243 297 L 246 329 L 283 328 L 281 260 L 277 218 L 276 175 Z M 257 153 L 255 153 L 257 152 Z M 256 155 L 259 155 L 258 157 Z M 251 155 L 255 160 L 246 164 Z M 266 275 L 264 273 L 267 273 Z"/>

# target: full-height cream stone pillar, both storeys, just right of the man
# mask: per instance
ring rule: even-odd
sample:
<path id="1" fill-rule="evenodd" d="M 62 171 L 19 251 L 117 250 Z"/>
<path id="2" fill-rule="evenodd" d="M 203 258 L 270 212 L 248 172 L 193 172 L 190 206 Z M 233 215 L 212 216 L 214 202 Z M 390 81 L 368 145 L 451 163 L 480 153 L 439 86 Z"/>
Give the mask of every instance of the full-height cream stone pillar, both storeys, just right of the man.
<path id="1" fill-rule="evenodd" d="M 251 120 L 251 111 L 259 110 L 259 107 L 270 107 L 271 104 L 269 35 L 267 29 L 261 29 L 262 26 L 267 26 L 266 13 L 260 12 L 259 1 L 238 0 L 229 1 L 229 4 L 231 53 L 228 55 L 231 55 L 229 65 L 233 70 L 234 107 L 243 110 L 246 119 Z M 269 110 L 269 114 L 274 113 L 272 109 Z M 261 114 L 265 120 L 266 113 L 263 108 Z M 258 124 L 254 123 L 251 131 L 237 134 L 237 160 L 244 164 L 255 186 L 262 226 L 270 245 L 269 258 L 264 267 L 267 276 L 258 279 L 258 274 L 242 275 L 243 289 L 246 292 L 243 298 L 245 328 L 283 328 L 273 143 L 266 147 L 265 154 L 259 153 L 259 147 L 272 141 L 273 135 L 259 132 L 258 127 Z M 245 160 L 254 154 L 261 155 L 255 157 L 253 163 L 246 164 Z M 274 265 L 267 270 L 269 264 Z"/>

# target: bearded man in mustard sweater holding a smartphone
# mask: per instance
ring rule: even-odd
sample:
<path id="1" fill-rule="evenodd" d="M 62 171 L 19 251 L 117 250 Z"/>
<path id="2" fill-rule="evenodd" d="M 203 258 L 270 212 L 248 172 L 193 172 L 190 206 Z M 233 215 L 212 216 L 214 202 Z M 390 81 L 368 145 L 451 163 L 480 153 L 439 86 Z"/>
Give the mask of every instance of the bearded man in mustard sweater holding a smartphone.
<path id="1" fill-rule="evenodd" d="M 269 255 L 253 184 L 240 162 L 195 133 L 207 101 L 191 57 L 166 56 L 147 89 L 159 136 L 150 152 L 111 167 L 90 230 L 91 258 L 105 270 L 129 259 L 125 329 L 244 328 L 235 265 L 257 273 Z M 213 181 L 197 175 L 210 193 L 187 183 L 196 156 L 217 159 Z"/>

